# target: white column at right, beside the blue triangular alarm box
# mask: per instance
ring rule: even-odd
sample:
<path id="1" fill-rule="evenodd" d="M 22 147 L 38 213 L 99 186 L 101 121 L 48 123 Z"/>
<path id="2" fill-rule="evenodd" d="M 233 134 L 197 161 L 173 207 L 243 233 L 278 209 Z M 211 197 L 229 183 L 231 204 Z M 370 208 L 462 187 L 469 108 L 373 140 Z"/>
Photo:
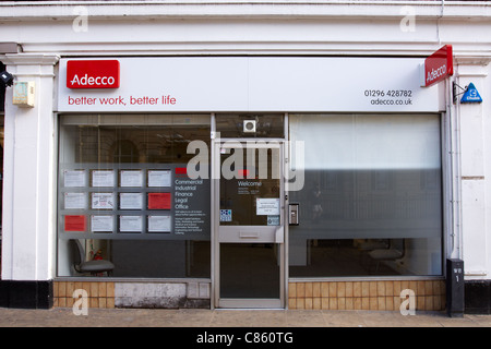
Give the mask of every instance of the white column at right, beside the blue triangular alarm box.
<path id="1" fill-rule="evenodd" d="M 489 95 L 489 59 L 457 59 L 459 86 L 474 83 L 483 101 L 481 104 L 459 104 L 460 135 L 460 190 L 462 190 L 462 242 L 466 279 L 488 279 L 489 243 L 489 181 L 486 168 L 489 153 L 484 146 L 489 134 L 491 104 Z M 462 95 L 458 99 L 462 98 Z M 489 173 L 488 173 L 489 176 Z M 488 212 L 488 214 L 487 214 Z"/>

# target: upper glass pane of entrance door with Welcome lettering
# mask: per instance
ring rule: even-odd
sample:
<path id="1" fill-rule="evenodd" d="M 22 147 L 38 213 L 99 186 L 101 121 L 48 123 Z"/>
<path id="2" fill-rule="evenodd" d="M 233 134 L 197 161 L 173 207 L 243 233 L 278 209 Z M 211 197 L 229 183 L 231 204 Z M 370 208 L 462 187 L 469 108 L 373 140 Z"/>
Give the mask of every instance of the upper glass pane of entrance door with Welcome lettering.
<path id="1" fill-rule="evenodd" d="M 220 225 L 279 226 L 279 149 L 220 153 Z"/>

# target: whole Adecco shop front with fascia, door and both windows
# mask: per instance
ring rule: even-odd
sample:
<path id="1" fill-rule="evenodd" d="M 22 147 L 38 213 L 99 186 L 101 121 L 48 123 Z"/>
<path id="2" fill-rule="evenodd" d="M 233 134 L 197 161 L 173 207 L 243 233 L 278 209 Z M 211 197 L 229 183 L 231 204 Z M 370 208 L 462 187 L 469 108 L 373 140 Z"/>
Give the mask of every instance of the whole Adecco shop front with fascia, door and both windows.
<path id="1" fill-rule="evenodd" d="M 422 62 L 60 59 L 56 304 L 444 309 L 445 84 Z"/>

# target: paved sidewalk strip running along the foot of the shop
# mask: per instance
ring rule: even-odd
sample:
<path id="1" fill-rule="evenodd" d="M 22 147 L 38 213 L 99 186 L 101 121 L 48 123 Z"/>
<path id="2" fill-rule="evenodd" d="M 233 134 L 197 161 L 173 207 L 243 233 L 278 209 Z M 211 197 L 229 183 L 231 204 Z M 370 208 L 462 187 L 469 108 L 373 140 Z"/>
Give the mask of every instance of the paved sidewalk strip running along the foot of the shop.
<path id="1" fill-rule="evenodd" d="M 324 328 L 324 327 L 491 327 L 491 315 L 390 311 L 316 310 L 166 310 L 71 308 L 25 310 L 0 308 L 0 327 L 187 327 L 187 328 Z"/>

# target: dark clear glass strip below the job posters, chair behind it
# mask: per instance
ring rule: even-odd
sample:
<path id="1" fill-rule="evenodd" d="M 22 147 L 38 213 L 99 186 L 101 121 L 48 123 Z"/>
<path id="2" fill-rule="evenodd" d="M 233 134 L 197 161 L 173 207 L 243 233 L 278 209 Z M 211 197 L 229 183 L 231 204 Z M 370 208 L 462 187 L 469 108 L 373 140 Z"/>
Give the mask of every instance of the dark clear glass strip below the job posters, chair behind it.
<path id="1" fill-rule="evenodd" d="M 69 243 L 67 243 L 69 242 Z M 60 240 L 62 276 L 209 277 L 209 241 Z M 67 243 L 67 245 L 64 245 Z M 112 264 L 106 269 L 107 264 Z M 63 269 L 67 272 L 63 273 Z"/>

